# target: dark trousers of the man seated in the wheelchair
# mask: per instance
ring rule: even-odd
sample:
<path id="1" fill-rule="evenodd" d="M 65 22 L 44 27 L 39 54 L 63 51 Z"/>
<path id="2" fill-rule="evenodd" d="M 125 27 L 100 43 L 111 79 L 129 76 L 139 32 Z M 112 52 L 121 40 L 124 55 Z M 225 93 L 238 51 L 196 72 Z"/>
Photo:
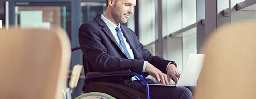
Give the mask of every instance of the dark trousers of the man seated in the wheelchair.
<path id="1" fill-rule="evenodd" d="M 156 84 L 151 79 L 146 79 L 149 84 Z M 140 80 L 119 83 L 146 94 L 146 86 Z M 149 86 L 150 99 L 193 99 L 193 87 Z"/>

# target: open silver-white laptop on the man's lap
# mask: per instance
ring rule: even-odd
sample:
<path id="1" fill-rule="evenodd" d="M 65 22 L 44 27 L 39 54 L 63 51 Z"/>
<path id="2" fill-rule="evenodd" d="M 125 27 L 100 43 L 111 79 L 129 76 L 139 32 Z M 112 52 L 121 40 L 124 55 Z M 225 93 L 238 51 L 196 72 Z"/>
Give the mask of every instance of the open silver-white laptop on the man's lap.
<path id="1" fill-rule="evenodd" d="M 203 67 L 204 54 L 189 54 L 177 84 L 149 84 L 156 86 L 196 86 Z"/>

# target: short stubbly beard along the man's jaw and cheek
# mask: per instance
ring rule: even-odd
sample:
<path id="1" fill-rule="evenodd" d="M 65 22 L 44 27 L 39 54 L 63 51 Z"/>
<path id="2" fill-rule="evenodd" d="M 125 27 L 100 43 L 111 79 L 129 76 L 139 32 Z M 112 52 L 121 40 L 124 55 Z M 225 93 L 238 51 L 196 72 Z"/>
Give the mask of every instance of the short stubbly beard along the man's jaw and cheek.
<path id="1" fill-rule="evenodd" d="M 118 14 L 117 12 L 118 12 L 118 9 L 115 6 L 114 9 L 112 10 L 112 16 L 114 20 L 119 23 L 126 23 L 127 19 L 123 17 L 124 14 Z"/>

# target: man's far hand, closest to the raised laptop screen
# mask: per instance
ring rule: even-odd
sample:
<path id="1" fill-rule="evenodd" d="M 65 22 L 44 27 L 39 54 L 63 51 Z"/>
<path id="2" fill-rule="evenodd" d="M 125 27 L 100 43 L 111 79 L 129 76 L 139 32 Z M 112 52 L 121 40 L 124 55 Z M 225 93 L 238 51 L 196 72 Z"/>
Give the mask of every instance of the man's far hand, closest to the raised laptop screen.
<path id="1" fill-rule="evenodd" d="M 171 81 L 171 77 L 174 79 L 175 84 L 177 84 L 177 78 L 180 78 L 180 71 L 174 64 L 170 64 L 167 68 L 167 78 L 169 82 Z"/>

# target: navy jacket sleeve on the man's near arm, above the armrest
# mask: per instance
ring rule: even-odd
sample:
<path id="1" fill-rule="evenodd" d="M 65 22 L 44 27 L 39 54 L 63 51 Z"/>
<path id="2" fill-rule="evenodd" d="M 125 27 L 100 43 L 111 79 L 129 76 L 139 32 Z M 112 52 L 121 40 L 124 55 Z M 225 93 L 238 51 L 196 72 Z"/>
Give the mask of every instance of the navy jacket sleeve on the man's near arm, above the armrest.
<path id="1" fill-rule="evenodd" d="M 98 72 L 111 72 L 130 69 L 142 72 L 143 60 L 125 59 L 110 56 L 101 42 L 99 32 L 89 23 L 79 28 L 79 45 L 85 57 Z"/>

